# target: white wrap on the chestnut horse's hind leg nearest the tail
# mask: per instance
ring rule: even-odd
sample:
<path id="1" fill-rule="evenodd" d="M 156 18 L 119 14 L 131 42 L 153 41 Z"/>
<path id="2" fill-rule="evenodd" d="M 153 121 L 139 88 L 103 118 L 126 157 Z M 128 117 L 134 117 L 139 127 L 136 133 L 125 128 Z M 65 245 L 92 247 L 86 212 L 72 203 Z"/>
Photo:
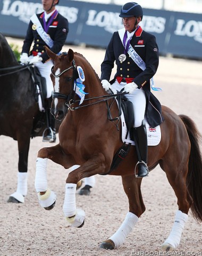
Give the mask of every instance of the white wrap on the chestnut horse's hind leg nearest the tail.
<path id="1" fill-rule="evenodd" d="M 164 244 L 170 244 L 174 249 L 180 244 L 180 239 L 184 225 L 188 219 L 188 215 L 181 211 L 177 211 L 175 215 L 175 221 L 169 237 L 166 239 Z"/>

